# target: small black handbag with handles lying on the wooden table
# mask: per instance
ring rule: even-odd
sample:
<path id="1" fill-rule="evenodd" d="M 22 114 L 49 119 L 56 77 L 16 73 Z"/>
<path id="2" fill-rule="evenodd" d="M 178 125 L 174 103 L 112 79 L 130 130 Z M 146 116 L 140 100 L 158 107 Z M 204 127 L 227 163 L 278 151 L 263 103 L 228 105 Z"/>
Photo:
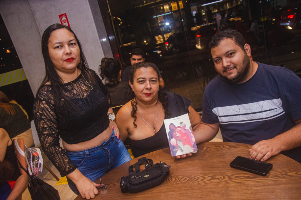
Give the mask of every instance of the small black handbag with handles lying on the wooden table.
<path id="1" fill-rule="evenodd" d="M 140 172 L 139 166 L 145 163 L 145 169 Z M 138 193 L 143 190 L 160 185 L 169 175 L 169 167 L 166 163 L 156 163 L 153 160 L 142 157 L 134 165 L 129 166 L 129 175 L 120 179 L 121 192 Z M 135 166 L 135 172 L 133 168 Z"/>

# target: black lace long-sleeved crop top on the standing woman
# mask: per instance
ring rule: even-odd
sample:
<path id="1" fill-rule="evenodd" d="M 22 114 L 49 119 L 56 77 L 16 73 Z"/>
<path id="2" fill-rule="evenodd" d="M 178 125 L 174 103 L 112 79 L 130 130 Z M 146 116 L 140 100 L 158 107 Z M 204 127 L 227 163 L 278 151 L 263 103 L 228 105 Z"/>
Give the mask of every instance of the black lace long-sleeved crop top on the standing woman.
<path id="1" fill-rule="evenodd" d="M 61 148 L 59 136 L 68 144 L 85 142 L 106 130 L 110 123 L 107 111 L 112 105 L 107 88 L 95 71 L 81 71 L 82 74 L 72 81 L 76 85 L 68 82 L 62 86 L 66 89 L 66 96 L 82 113 L 68 109 L 63 100 L 55 106 L 51 85 L 41 85 L 33 106 L 33 117 L 42 149 L 62 177 L 73 172 L 77 166 Z M 91 91 L 83 89 L 90 88 L 85 79 L 93 87 Z M 58 110 L 62 117 L 57 115 Z"/>

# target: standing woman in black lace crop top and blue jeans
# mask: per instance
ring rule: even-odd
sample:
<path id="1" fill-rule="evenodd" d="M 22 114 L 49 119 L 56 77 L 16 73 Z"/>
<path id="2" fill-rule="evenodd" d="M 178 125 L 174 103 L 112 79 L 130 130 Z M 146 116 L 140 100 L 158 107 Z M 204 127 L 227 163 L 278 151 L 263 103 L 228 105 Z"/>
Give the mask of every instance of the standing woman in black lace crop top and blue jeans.
<path id="1" fill-rule="evenodd" d="M 46 28 L 42 54 L 46 76 L 33 108 L 41 146 L 76 194 L 94 198 L 98 184 L 93 181 L 131 159 L 119 139 L 110 94 L 88 69 L 79 40 L 68 26 Z"/>

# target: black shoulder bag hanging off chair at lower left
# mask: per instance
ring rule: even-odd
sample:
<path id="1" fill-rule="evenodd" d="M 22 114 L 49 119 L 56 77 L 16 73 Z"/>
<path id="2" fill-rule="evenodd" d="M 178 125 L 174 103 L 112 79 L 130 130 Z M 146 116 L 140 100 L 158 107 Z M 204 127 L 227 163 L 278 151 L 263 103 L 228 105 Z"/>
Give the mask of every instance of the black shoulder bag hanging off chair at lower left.
<path id="1" fill-rule="evenodd" d="M 28 175 L 28 190 L 32 200 L 61 200 L 58 191 L 54 187 L 42 181 L 35 175 L 29 175 L 28 171 L 18 163 L 20 167 Z"/>

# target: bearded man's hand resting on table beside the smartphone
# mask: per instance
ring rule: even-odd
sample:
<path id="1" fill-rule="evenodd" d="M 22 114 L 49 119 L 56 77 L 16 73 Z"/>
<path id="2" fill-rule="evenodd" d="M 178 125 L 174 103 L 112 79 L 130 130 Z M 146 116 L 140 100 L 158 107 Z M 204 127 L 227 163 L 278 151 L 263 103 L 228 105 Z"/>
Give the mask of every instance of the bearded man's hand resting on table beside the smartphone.
<path id="1" fill-rule="evenodd" d="M 268 139 L 257 142 L 249 149 L 250 158 L 265 161 L 281 152 L 281 144 L 276 139 Z"/>

